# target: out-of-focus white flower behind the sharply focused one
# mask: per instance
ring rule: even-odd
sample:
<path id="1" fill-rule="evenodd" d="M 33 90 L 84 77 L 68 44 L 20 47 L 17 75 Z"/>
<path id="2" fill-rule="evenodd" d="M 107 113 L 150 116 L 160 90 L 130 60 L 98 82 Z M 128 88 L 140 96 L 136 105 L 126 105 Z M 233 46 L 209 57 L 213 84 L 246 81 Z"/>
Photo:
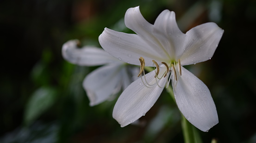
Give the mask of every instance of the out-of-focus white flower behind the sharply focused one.
<path id="1" fill-rule="evenodd" d="M 88 74 L 83 81 L 90 106 L 106 101 L 121 88 L 125 89 L 131 84 L 132 76 L 137 76 L 137 67 L 129 66 L 97 47 L 78 48 L 78 43 L 78 40 L 69 40 L 63 44 L 64 59 L 80 66 L 104 65 Z"/>

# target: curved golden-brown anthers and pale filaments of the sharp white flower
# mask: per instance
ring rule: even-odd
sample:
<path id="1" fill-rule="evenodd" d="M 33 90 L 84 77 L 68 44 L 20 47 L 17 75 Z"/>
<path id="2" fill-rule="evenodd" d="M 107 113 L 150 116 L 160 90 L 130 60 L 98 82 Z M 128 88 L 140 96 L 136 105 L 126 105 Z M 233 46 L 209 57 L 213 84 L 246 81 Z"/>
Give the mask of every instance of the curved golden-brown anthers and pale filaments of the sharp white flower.
<path id="1" fill-rule="evenodd" d="M 162 62 L 162 66 L 165 66 L 166 69 L 164 72 L 161 72 L 163 73 L 162 75 L 159 75 L 160 73 L 160 66 L 158 65 L 158 63 L 155 61 L 155 60 L 152 60 L 152 62 L 154 63 L 154 66 L 156 67 L 155 69 L 155 79 L 156 79 L 156 82 L 153 83 L 153 84 L 150 84 L 147 80 L 146 80 L 146 76 L 145 76 L 145 71 L 144 71 L 144 68 L 145 68 L 145 60 L 143 57 L 140 57 L 139 58 L 139 61 L 140 61 L 140 72 L 138 74 L 138 77 L 141 78 L 142 80 L 142 83 L 144 84 L 144 86 L 148 87 L 148 88 L 151 88 L 155 85 L 159 86 L 160 88 L 164 88 L 164 86 L 160 86 L 159 85 L 159 80 L 161 80 L 162 78 L 166 78 L 166 88 L 168 88 L 169 86 L 169 83 L 170 83 L 170 80 L 171 80 L 171 77 L 172 76 L 169 76 L 170 75 L 170 72 L 173 74 L 174 76 L 174 79 L 177 80 L 177 72 L 179 72 L 180 76 L 181 76 L 181 60 L 179 59 L 178 62 L 176 61 L 171 61 L 169 64 L 165 63 L 165 62 Z M 175 69 L 176 67 L 176 69 Z M 142 74 L 144 74 L 144 80 L 142 78 Z M 172 75 L 171 74 L 171 75 Z"/>

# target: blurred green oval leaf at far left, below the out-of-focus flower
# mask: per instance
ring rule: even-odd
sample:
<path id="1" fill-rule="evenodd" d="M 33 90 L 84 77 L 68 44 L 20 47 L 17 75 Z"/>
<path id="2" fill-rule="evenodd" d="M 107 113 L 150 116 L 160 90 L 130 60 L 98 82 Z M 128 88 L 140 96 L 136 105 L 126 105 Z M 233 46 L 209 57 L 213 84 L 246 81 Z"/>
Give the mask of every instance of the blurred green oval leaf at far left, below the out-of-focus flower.
<path id="1" fill-rule="evenodd" d="M 24 121 L 26 125 L 29 125 L 51 107 L 56 100 L 56 93 L 54 88 L 41 87 L 32 94 L 25 109 Z"/>

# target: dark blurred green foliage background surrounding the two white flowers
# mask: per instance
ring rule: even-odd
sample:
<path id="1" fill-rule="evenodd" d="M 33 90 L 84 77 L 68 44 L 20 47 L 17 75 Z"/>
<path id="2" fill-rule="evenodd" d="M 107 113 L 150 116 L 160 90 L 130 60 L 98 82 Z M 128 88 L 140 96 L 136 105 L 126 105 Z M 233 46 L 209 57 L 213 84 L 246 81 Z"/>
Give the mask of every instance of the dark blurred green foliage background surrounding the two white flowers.
<path id="1" fill-rule="evenodd" d="M 116 100 L 90 107 L 82 88 L 97 67 L 66 62 L 62 44 L 99 46 L 105 27 L 131 33 L 125 11 L 150 23 L 175 11 L 186 33 L 215 22 L 225 30 L 212 59 L 187 66 L 210 89 L 219 124 L 204 143 L 256 143 L 256 0 L 0 0 L 0 143 L 182 143 L 181 117 L 163 92 L 137 125 L 112 118 Z"/>

